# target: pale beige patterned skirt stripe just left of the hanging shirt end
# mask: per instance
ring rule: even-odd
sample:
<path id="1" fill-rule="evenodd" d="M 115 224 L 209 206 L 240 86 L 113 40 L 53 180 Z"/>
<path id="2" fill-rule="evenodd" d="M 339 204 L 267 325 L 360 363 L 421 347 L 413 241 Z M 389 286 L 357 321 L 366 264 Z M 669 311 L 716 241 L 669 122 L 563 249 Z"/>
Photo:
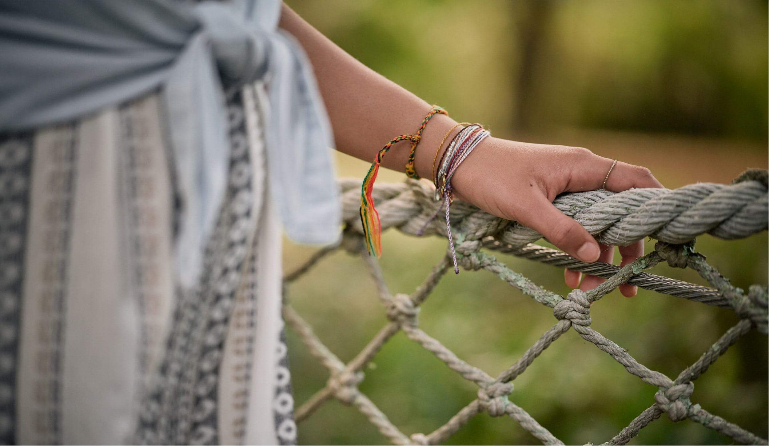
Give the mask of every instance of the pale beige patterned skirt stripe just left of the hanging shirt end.
<path id="1" fill-rule="evenodd" d="M 165 354 L 175 298 L 170 267 L 175 196 L 160 111 L 157 95 L 148 95 L 119 109 L 123 145 L 121 198 L 128 243 L 126 275 L 139 313 L 140 373 L 136 400 L 140 404 L 152 390 Z M 146 415 L 140 413 L 138 417 L 141 424 Z"/>

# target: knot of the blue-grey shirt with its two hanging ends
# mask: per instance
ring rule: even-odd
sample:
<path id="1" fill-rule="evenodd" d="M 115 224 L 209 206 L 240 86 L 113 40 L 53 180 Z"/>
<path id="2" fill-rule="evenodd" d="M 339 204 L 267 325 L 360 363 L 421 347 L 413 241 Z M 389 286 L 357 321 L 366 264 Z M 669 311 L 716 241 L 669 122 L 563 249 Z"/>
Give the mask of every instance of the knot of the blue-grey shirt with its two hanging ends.
<path id="1" fill-rule="evenodd" d="M 180 12 L 190 12 L 197 28 L 170 69 L 164 94 L 183 201 L 177 271 L 187 286 L 201 272 L 203 246 L 225 196 L 229 145 L 221 88 L 269 78 L 268 182 L 285 231 L 304 243 L 338 240 L 328 116 L 300 45 L 275 29 L 278 14 L 260 15 L 258 8 L 208 0 Z"/>

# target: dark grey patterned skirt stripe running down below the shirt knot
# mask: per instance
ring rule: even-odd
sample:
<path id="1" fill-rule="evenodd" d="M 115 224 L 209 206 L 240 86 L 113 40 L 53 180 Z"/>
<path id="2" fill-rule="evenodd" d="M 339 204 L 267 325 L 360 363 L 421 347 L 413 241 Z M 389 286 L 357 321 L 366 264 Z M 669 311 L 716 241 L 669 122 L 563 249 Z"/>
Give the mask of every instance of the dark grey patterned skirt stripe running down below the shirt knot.
<path id="1" fill-rule="evenodd" d="M 242 108 L 239 92 L 228 106 Z M 145 415 L 139 428 L 142 443 L 218 443 L 223 348 L 255 227 L 248 141 L 242 119 L 230 120 L 230 139 L 228 195 L 207 246 L 201 285 L 178 291 L 179 305 L 160 378 L 144 404 Z"/>

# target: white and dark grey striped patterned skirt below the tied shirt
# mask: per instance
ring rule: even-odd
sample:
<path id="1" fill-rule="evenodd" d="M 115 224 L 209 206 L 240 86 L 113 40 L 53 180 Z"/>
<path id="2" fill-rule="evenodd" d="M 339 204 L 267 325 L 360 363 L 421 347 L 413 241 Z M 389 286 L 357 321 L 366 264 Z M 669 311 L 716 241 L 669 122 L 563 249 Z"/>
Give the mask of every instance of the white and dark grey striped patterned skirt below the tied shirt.
<path id="1" fill-rule="evenodd" d="M 227 97 L 227 193 L 193 288 L 172 271 L 158 92 L 0 134 L 0 442 L 295 443 L 268 101 Z"/>

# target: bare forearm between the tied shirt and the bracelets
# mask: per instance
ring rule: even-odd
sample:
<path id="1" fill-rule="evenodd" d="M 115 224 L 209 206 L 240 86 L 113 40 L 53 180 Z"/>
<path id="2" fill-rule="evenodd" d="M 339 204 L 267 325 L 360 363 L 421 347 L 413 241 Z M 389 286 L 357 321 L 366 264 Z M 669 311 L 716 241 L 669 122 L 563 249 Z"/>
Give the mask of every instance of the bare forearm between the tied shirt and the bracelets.
<path id="1" fill-rule="evenodd" d="M 310 58 L 339 151 L 372 161 L 389 140 L 417 130 L 431 105 L 358 62 L 285 4 L 279 26 L 297 38 Z M 430 178 L 438 144 L 454 124 L 445 115 L 431 118 L 415 159 L 418 175 Z M 404 171 L 408 148 L 408 141 L 398 143 L 382 165 Z"/>

